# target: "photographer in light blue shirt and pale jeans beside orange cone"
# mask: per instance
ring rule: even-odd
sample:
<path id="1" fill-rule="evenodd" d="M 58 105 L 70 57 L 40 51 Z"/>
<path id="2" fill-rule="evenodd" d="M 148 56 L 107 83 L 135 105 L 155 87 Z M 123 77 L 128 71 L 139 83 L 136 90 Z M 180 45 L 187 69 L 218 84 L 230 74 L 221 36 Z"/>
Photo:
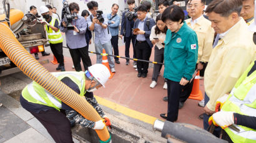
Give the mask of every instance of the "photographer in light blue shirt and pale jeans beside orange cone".
<path id="1" fill-rule="evenodd" d="M 98 3 L 90 1 L 87 7 L 91 12 L 91 16 L 87 17 L 89 30 L 95 32 L 95 50 L 97 53 L 102 53 L 102 48 L 106 50 L 107 54 L 112 55 L 111 34 L 107 27 L 107 17 L 102 11 L 98 11 Z M 116 72 L 113 57 L 107 57 L 111 72 Z M 97 55 L 97 63 L 102 63 L 102 55 Z"/>

